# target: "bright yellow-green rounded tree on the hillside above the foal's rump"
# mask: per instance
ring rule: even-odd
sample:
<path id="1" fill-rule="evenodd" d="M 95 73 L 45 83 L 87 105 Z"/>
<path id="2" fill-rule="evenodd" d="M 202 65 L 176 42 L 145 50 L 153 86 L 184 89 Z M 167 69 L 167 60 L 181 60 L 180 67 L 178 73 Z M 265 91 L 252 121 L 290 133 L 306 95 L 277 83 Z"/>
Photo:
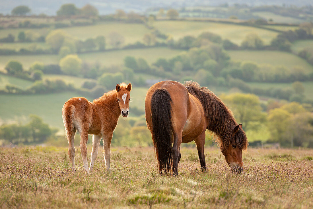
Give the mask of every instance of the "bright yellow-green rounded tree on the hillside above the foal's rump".
<path id="1" fill-rule="evenodd" d="M 60 60 L 61 71 L 77 76 L 80 74 L 82 60 L 77 55 L 67 55 Z"/>

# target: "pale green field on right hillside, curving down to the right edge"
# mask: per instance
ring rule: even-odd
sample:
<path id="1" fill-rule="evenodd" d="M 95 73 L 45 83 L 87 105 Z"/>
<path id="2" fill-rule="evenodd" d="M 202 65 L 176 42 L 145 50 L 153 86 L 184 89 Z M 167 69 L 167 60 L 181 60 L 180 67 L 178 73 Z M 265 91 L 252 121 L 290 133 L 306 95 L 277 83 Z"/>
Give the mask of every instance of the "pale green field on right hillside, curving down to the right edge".
<path id="1" fill-rule="evenodd" d="M 304 59 L 291 53 L 282 51 L 248 51 L 248 50 L 233 50 L 228 51 L 232 60 L 254 61 L 258 64 L 270 64 L 274 66 L 302 66 L 305 71 L 312 72 L 313 66 L 307 63 Z"/>

